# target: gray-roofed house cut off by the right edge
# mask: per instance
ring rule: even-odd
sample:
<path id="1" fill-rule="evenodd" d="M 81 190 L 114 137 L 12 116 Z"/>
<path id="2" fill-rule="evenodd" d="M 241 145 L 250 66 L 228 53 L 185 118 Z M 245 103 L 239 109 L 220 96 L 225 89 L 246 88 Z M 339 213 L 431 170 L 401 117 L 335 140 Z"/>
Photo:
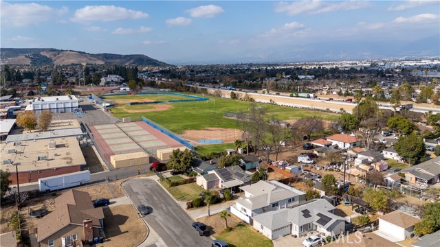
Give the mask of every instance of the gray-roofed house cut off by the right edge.
<path id="1" fill-rule="evenodd" d="M 440 182 L 440 156 L 429 161 L 413 165 L 401 170 L 405 174 L 405 180 L 413 185 L 426 187 Z"/>

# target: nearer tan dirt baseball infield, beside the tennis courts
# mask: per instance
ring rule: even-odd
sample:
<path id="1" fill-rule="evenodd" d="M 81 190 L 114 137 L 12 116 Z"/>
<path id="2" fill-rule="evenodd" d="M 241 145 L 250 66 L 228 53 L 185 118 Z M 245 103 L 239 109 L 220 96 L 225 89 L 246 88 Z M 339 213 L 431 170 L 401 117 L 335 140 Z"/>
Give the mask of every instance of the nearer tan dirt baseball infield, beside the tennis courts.
<path id="1" fill-rule="evenodd" d="M 204 128 L 203 130 L 185 130 L 181 135 L 190 141 L 221 140 L 223 143 L 234 142 L 241 139 L 241 130 L 230 128 Z"/>

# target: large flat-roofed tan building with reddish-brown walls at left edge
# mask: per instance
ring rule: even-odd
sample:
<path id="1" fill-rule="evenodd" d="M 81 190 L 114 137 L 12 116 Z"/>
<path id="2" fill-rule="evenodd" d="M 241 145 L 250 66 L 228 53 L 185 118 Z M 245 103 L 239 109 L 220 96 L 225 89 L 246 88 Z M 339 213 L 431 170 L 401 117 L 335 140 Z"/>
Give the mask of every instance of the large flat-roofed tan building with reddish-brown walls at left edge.
<path id="1" fill-rule="evenodd" d="M 16 167 L 20 183 L 37 182 L 39 178 L 80 172 L 85 158 L 75 137 L 50 140 L 0 143 L 0 169 L 8 169 L 10 180 L 17 185 Z"/>

